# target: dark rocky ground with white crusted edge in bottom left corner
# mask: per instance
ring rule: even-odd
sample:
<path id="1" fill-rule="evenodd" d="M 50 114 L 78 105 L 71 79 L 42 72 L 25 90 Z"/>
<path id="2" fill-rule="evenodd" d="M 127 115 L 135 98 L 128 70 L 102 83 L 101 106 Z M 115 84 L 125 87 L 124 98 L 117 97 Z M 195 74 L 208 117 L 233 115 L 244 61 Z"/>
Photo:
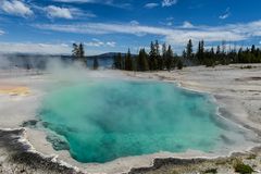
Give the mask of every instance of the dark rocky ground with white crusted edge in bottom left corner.
<path id="1" fill-rule="evenodd" d="M 44 157 L 24 139 L 25 129 L 0 129 L 0 173 L 84 174 L 63 165 L 55 157 Z"/>

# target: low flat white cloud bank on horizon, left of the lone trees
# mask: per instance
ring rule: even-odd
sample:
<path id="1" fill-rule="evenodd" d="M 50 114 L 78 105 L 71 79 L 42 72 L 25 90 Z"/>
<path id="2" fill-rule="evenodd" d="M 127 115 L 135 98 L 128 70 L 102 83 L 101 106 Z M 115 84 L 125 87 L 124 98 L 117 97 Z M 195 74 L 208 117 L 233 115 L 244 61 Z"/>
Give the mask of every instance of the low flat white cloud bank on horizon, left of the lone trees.
<path id="1" fill-rule="evenodd" d="M 71 53 L 71 47 L 65 44 L 33 44 L 33 42 L 0 42 L 1 53 Z"/>

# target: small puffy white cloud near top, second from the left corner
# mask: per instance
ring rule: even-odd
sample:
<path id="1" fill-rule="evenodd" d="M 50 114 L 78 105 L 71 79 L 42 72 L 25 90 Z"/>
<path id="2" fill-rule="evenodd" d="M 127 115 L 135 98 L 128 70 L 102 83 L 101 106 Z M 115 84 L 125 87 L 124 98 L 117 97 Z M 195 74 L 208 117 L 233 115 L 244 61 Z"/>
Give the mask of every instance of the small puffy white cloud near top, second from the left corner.
<path id="1" fill-rule="evenodd" d="M 54 5 L 49 5 L 45 8 L 45 11 L 47 12 L 48 17 L 50 18 L 73 18 L 73 15 L 67 8 L 59 8 Z"/>

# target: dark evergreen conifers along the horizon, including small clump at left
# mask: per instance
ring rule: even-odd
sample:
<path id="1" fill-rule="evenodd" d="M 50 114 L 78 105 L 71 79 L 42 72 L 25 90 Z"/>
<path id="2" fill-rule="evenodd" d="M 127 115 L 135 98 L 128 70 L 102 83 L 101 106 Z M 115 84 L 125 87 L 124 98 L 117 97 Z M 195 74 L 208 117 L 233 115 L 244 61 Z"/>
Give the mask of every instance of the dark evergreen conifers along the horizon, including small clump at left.
<path id="1" fill-rule="evenodd" d="M 228 48 L 227 48 L 228 47 Z M 83 44 L 73 44 L 73 60 L 82 62 L 87 66 L 85 49 Z M 252 45 L 251 48 L 237 49 L 222 41 L 216 47 L 206 47 L 204 41 L 200 40 L 194 51 L 192 40 L 189 39 L 182 55 L 174 53 L 171 45 L 160 45 L 158 40 L 151 41 L 149 50 L 139 49 L 138 54 L 117 53 L 113 58 L 113 69 L 125 71 L 171 71 L 182 70 L 183 66 L 206 65 L 215 66 L 219 64 L 227 65 L 231 63 L 261 63 L 261 50 Z M 95 57 L 92 69 L 99 69 L 98 58 Z"/>

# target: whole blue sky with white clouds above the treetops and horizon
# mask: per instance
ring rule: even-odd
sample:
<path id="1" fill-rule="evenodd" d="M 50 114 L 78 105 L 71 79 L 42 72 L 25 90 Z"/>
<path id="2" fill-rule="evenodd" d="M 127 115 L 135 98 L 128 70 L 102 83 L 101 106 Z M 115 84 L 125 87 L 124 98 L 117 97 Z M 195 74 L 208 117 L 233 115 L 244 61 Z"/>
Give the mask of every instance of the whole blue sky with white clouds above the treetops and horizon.
<path id="1" fill-rule="evenodd" d="M 84 42 L 86 53 L 137 53 L 151 40 L 179 53 L 226 40 L 260 46 L 260 0 L 0 0 L 0 52 L 64 53 Z"/>

